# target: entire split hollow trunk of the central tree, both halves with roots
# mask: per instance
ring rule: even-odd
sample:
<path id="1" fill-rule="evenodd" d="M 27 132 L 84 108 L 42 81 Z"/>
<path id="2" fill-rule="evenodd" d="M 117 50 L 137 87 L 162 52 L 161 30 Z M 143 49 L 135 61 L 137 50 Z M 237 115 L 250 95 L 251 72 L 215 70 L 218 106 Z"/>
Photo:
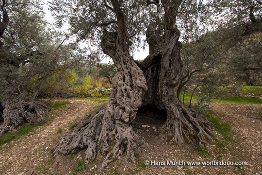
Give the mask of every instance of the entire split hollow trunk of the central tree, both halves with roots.
<path id="1" fill-rule="evenodd" d="M 159 31 L 154 27 L 147 30 L 150 55 L 142 63 L 136 63 L 127 46 L 127 28 L 120 4 L 118 0 L 111 0 L 118 29 L 115 33 L 104 29 L 101 47 L 105 54 L 111 56 L 118 69 L 112 94 L 106 106 L 87 115 L 57 142 L 52 149 L 55 156 L 86 148 L 85 158 L 92 161 L 97 154 L 96 148 L 99 148 L 101 154 L 105 155 L 100 171 L 121 155 L 127 161 L 135 159 L 134 153 L 143 140 L 133 131 L 131 122 L 142 105 L 166 110 L 167 120 L 159 133 L 164 140 L 175 145 L 197 142 L 201 146 L 209 146 L 212 141 L 210 124 L 181 104 L 174 95 L 182 69 L 181 44 L 178 41 L 180 32 L 174 17 L 180 0 L 174 2 L 163 0 L 165 34 L 159 37 Z M 164 43 L 164 51 L 159 51 L 159 42 Z"/>

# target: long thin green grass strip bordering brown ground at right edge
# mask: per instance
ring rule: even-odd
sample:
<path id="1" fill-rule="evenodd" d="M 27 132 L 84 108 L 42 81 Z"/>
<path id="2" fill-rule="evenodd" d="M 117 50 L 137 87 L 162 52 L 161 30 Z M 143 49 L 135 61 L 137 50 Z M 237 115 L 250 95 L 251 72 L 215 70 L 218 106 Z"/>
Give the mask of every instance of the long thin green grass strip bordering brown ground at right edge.
<path id="1" fill-rule="evenodd" d="M 233 95 L 226 95 L 223 98 L 213 99 L 212 101 L 218 103 L 262 104 L 262 100 L 260 100 L 258 97 L 243 97 Z"/>

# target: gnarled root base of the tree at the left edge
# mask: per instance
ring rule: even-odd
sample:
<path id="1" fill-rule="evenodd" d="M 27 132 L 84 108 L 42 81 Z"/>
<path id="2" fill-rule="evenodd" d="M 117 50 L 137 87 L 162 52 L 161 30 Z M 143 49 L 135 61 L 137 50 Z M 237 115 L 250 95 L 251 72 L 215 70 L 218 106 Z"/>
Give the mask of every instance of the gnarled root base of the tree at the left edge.
<path id="1" fill-rule="evenodd" d="M 3 124 L 0 126 L 0 136 L 6 132 L 16 130 L 22 124 L 44 122 L 49 117 L 49 111 L 51 110 L 39 101 L 33 102 L 30 112 L 27 110 L 31 102 L 25 102 L 24 100 L 14 102 L 7 99 L 2 101 L 1 105 L 3 108 L 1 114 Z"/>

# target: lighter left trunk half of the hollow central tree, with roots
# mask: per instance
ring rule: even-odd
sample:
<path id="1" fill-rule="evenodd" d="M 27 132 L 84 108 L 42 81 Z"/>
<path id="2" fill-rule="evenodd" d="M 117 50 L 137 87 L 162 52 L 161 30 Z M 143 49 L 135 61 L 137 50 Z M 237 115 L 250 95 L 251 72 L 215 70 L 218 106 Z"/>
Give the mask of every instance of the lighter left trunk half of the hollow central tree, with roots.
<path id="1" fill-rule="evenodd" d="M 67 155 L 75 152 L 77 147 L 87 147 L 86 158 L 91 161 L 96 157 L 96 147 L 99 145 L 101 154 L 106 155 L 100 171 L 120 155 L 124 155 L 126 161 L 135 159 L 135 151 L 143 144 L 143 140 L 132 130 L 130 123 L 135 119 L 136 111 L 142 105 L 142 96 L 147 91 L 143 72 L 128 50 L 127 28 L 118 1 L 112 0 L 112 5 L 118 31 L 113 33 L 104 30 L 101 40 L 103 52 L 111 56 L 118 69 L 108 104 L 88 115 L 52 149 L 55 155 Z"/>

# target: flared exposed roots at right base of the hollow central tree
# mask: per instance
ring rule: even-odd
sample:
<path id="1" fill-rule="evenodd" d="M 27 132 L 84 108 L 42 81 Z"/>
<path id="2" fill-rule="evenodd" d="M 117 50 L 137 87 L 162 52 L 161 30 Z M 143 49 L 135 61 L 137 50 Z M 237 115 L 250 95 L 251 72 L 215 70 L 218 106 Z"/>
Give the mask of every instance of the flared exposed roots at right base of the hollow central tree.
<path id="1" fill-rule="evenodd" d="M 209 149 L 213 142 L 210 136 L 212 124 L 181 103 L 169 107 L 167 121 L 161 127 L 160 136 L 174 145 L 194 142 Z"/>

